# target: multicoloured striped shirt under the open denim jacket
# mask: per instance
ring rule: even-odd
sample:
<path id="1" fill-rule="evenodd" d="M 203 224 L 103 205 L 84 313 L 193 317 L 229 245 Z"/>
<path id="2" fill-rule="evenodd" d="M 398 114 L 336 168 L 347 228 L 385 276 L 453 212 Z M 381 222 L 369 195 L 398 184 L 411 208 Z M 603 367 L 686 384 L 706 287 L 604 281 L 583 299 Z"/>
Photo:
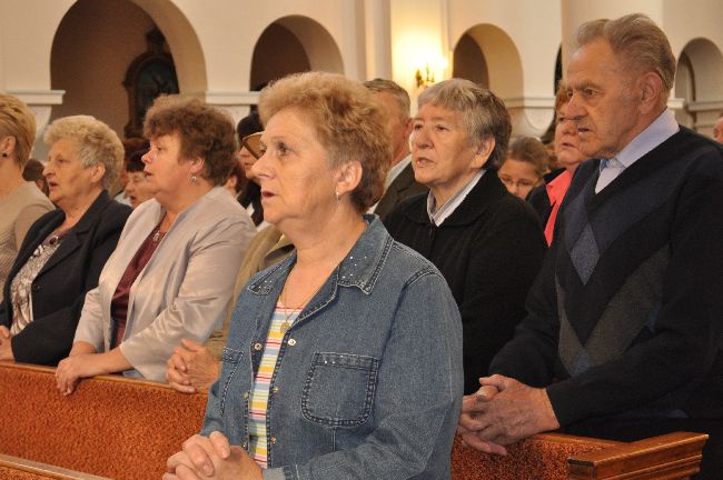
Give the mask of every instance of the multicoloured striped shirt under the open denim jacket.
<path id="1" fill-rule="evenodd" d="M 294 323 L 301 309 L 287 309 L 279 301 L 271 317 L 261 363 L 254 380 L 248 416 L 249 453 L 261 468 L 268 468 L 268 431 L 266 416 L 268 412 L 271 377 L 276 370 L 279 348 L 288 327 Z M 285 326 L 285 323 L 288 323 Z"/>

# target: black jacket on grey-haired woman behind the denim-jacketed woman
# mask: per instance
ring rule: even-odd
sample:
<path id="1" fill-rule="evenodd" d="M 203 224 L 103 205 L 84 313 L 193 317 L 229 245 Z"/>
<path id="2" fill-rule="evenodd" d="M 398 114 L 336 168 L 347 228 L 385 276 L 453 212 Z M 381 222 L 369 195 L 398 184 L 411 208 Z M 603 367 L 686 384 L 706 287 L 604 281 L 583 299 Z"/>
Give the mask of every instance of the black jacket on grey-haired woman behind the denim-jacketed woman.
<path id="1" fill-rule="evenodd" d="M 465 393 L 477 391 L 477 379 L 525 317 L 547 246 L 535 212 L 488 170 L 442 226 L 429 221 L 426 194 L 403 201 L 384 223 L 447 280 L 462 313 Z"/>

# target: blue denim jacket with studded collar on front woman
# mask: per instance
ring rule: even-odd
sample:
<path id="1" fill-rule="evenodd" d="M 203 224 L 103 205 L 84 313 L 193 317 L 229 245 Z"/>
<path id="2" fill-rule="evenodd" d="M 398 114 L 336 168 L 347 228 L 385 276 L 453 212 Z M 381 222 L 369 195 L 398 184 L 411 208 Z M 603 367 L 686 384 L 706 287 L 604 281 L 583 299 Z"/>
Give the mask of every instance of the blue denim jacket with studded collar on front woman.
<path id="1" fill-rule="evenodd" d="M 376 217 L 281 342 L 266 479 L 448 479 L 462 406 L 462 322 L 437 269 Z M 248 448 L 249 394 L 291 254 L 234 310 L 204 434 Z"/>

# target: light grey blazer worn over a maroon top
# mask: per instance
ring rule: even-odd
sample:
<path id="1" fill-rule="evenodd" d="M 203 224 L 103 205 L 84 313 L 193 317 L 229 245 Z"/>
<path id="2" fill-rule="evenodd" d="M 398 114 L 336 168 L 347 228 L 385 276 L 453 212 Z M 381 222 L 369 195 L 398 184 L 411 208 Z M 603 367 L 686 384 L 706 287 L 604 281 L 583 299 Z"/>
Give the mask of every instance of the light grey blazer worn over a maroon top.
<path id="1" fill-rule="evenodd" d="M 164 213 L 151 199 L 128 218 L 98 287 L 86 296 L 73 341 L 88 342 L 98 352 L 109 350 L 113 293 Z M 181 338 L 204 342 L 220 328 L 254 233 L 246 210 L 221 187 L 178 214 L 130 288 L 120 351 L 135 370 L 123 374 L 165 381 L 166 361 Z"/>

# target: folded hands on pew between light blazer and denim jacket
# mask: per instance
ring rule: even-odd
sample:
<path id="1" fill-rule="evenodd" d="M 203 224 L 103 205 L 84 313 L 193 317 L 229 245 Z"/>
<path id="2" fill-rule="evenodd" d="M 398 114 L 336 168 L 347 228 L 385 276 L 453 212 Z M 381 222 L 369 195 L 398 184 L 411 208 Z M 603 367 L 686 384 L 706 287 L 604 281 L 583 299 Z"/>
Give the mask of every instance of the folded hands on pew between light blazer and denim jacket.
<path id="1" fill-rule="evenodd" d="M 175 390 L 195 393 L 208 388 L 219 376 L 220 362 L 202 344 L 191 340 L 181 340 L 168 359 L 166 381 Z"/>

